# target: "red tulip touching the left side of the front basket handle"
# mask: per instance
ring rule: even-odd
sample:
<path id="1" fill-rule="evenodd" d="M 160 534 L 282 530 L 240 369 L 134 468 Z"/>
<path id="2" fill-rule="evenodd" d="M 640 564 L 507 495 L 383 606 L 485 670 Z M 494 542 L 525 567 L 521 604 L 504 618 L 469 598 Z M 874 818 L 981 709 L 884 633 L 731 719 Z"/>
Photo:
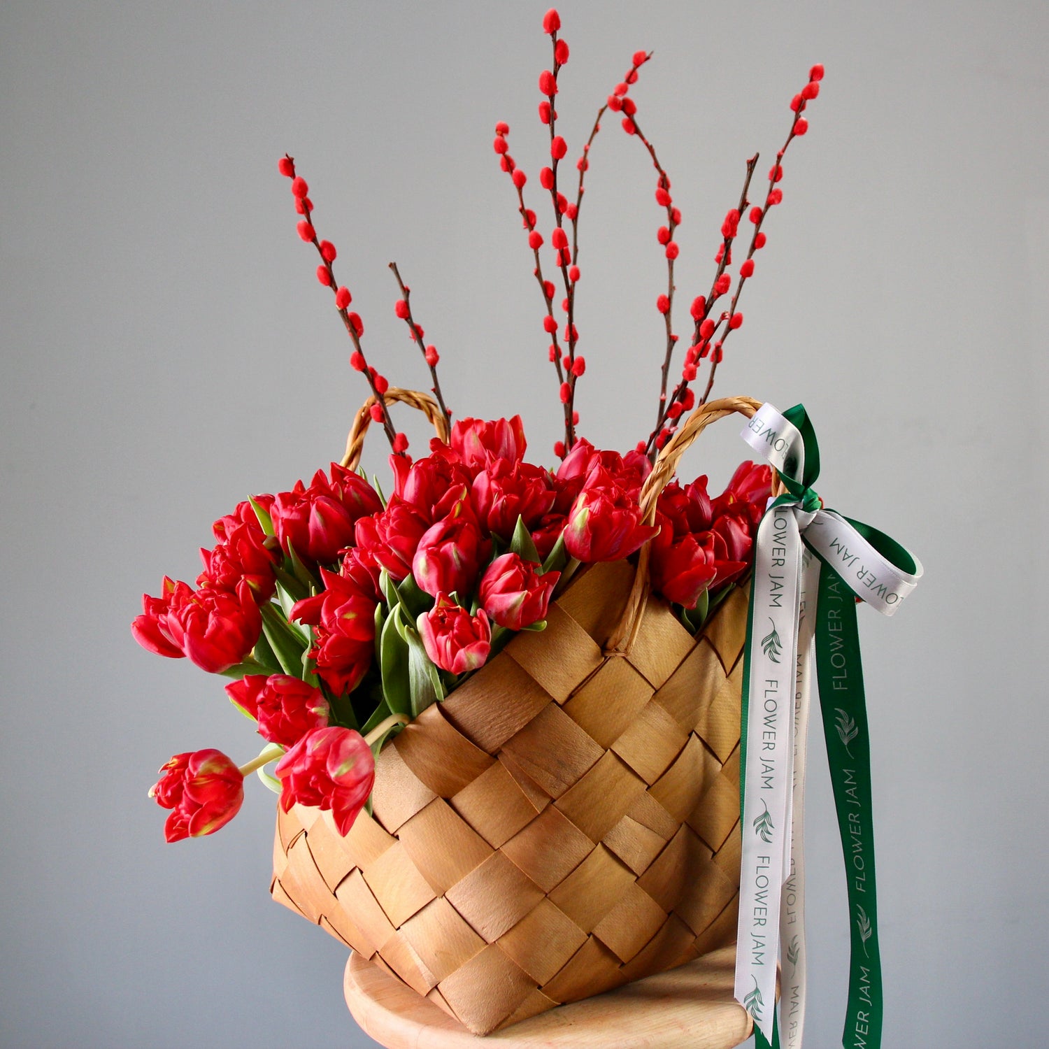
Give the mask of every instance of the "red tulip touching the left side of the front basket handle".
<path id="1" fill-rule="evenodd" d="M 656 526 L 641 523 L 635 495 L 598 467 L 590 471 L 586 487 L 572 506 L 564 545 L 580 561 L 618 561 L 658 531 Z"/>

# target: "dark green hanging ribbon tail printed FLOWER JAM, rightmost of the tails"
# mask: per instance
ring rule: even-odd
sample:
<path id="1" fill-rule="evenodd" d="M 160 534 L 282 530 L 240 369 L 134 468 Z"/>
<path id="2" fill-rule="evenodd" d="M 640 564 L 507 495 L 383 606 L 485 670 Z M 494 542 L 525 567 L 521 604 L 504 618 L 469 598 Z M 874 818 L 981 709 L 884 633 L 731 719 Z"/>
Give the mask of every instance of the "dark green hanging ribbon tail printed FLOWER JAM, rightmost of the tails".
<path id="1" fill-rule="evenodd" d="M 816 673 L 849 887 L 852 937 L 842 1044 L 878 1049 L 883 999 L 863 669 L 853 592 L 826 562 L 816 607 Z"/>

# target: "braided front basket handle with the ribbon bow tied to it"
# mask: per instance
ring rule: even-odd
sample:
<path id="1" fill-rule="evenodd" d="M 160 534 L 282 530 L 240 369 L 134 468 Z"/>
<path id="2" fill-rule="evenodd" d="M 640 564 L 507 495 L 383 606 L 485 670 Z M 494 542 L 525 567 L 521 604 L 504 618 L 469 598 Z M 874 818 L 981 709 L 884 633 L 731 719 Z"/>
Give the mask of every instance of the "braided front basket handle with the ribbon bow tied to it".
<path id="1" fill-rule="evenodd" d="M 641 519 L 644 524 L 652 524 L 656 521 L 656 507 L 659 502 L 660 494 L 669 484 L 675 471 L 678 469 L 678 462 L 692 442 L 711 424 L 726 415 L 741 414 L 751 419 L 754 412 L 761 408 L 762 402 L 749 397 L 726 397 L 708 404 L 701 404 L 685 421 L 685 424 L 678 430 L 673 437 L 664 446 L 663 450 L 656 458 L 652 472 L 645 480 L 641 489 L 639 501 L 641 504 Z M 779 478 L 775 471 L 772 472 L 772 491 L 778 494 L 782 490 Z M 609 637 L 605 645 L 605 652 L 609 656 L 625 656 L 634 646 L 637 639 L 638 629 L 641 626 L 642 613 L 648 600 L 648 559 L 650 556 L 649 543 L 646 542 L 638 554 L 638 571 L 634 577 L 634 586 L 626 601 L 616 629 Z"/>

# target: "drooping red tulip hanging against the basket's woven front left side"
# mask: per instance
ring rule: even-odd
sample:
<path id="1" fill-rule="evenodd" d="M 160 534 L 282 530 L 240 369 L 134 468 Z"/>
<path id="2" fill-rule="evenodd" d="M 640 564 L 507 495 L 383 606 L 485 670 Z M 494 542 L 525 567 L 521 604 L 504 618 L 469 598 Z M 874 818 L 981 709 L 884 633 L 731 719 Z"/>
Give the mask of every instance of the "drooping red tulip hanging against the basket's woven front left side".
<path id="1" fill-rule="evenodd" d="M 329 809 L 345 836 L 364 808 L 376 779 L 371 748 L 351 728 L 315 728 L 277 763 L 280 807 Z"/>

